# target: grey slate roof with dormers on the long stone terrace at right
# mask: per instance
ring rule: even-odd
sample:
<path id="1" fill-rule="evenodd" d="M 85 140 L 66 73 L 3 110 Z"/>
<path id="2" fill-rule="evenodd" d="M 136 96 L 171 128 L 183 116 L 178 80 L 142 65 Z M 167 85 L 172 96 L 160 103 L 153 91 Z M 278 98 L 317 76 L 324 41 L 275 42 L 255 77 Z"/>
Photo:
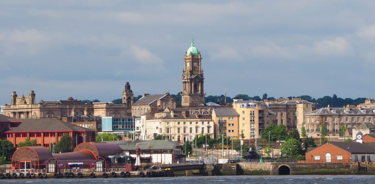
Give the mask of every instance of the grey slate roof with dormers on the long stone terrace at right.
<path id="1" fill-rule="evenodd" d="M 333 112 L 333 110 L 336 112 Z M 306 114 L 375 114 L 375 108 L 349 108 L 348 113 L 345 113 L 345 110 L 347 108 L 320 108 Z M 362 110 L 366 110 L 366 113 L 363 113 Z"/>

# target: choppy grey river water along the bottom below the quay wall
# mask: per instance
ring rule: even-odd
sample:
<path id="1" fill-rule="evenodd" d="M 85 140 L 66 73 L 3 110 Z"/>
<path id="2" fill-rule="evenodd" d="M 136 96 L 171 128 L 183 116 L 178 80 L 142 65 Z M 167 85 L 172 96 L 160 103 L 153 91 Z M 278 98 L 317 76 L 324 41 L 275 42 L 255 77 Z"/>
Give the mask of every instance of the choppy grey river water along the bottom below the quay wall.
<path id="1" fill-rule="evenodd" d="M 374 184 L 375 175 L 286 175 L 286 176 L 210 176 L 210 177 L 161 177 L 161 178 L 59 178 L 59 179 L 12 179 L 0 183 L 46 183 L 46 184 L 89 184 L 89 183 L 131 183 L 131 184 Z"/>

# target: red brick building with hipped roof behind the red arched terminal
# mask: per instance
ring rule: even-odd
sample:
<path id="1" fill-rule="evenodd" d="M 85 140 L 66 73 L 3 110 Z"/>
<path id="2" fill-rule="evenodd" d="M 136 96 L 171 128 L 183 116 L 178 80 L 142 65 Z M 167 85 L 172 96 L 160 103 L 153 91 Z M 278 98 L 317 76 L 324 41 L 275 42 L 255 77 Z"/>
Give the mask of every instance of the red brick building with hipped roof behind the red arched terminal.
<path id="1" fill-rule="evenodd" d="M 15 119 L 1 117 L 0 124 L 3 128 L 0 129 L 0 137 L 1 139 L 9 140 L 15 147 L 17 147 L 18 143 L 26 141 L 26 139 L 36 139 L 37 145 L 49 147 L 53 142 L 58 143 L 65 133 L 68 133 L 73 138 L 74 147 L 82 142 L 95 140 L 95 130 L 55 118 L 13 120 Z"/>

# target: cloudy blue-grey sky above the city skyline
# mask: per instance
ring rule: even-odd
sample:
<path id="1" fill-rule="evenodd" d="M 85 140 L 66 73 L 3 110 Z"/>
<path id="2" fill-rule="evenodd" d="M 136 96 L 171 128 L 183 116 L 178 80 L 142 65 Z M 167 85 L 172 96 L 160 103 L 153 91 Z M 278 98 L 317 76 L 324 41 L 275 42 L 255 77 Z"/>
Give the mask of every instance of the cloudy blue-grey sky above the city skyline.
<path id="1" fill-rule="evenodd" d="M 374 97 L 375 1 L 1 0 L 0 104 L 182 91 L 192 35 L 207 95 Z"/>

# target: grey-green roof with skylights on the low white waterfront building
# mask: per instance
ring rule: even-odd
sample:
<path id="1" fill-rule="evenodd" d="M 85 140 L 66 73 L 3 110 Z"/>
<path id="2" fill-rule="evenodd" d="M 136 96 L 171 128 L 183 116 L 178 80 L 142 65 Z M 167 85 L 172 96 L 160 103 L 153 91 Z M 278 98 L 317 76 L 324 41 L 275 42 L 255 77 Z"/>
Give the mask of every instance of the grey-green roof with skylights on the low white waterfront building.
<path id="1" fill-rule="evenodd" d="M 106 141 L 120 146 L 122 150 L 135 150 L 138 146 L 141 150 L 173 150 L 179 144 L 165 140 L 142 140 L 142 141 Z"/>

